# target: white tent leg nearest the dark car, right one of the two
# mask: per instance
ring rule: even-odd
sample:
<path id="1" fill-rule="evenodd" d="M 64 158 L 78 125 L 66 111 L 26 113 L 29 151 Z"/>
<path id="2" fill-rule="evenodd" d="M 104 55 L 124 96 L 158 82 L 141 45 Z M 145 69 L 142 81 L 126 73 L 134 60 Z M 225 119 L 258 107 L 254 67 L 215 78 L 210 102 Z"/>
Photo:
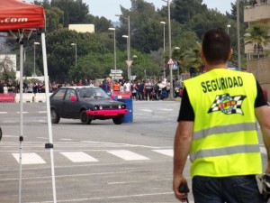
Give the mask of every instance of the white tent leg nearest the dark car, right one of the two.
<path id="1" fill-rule="evenodd" d="M 50 168 L 51 168 L 51 180 L 52 180 L 52 192 L 53 202 L 57 202 L 56 198 L 56 184 L 55 184 L 55 171 L 54 171 L 54 156 L 53 156 L 53 140 L 52 140 L 52 129 L 50 120 L 50 105 L 49 105 L 49 75 L 48 75 L 48 64 L 47 64 L 47 53 L 46 53 L 46 42 L 45 32 L 41 32 L 41 44 L 42 44 L 42 56 L 44 66 L 44 77 L 45 77 L 45 92 L 46 92 L 46 105 L 47 105 L 47 119 L 48 119 L 48 130 L 49 130 L 49 143 L 45 144 L 45 148 L 49 149 L 50 152 Z"/>

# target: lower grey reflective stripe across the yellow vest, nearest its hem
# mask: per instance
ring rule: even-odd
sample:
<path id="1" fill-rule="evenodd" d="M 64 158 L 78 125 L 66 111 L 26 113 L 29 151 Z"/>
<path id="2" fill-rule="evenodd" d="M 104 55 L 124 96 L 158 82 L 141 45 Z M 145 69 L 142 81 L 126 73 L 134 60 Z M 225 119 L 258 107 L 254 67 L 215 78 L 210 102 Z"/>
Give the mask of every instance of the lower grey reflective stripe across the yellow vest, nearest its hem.
<path id="1" fill-rule="evenodd" d="M 220 149 L 201 150 L 199 152 L 191 152 L 190 160 L 202 159 L 207 157 L 231 155 L 235 153 L 248 153 L 248 152 L 260 152 L 260 148 L 257 144 L 241 145 L 224 147 Z"/>

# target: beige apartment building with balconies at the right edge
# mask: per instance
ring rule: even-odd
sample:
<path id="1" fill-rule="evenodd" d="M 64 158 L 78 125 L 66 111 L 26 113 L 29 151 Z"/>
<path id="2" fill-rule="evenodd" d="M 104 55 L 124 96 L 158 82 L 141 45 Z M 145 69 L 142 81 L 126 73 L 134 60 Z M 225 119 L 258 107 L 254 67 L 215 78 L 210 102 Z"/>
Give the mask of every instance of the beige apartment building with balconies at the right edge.
<path id="1" fill-rule="evenodd" d="M 270 38 L 270 0 L 257 0 L 244 8 L 244 22 L 248 25 L 261 23 L 269 27 L 266 36 Z M 270 100 L 270 43 L 257 46 L 255 42 L 245 42 L 247 71 L 252 72 Z"/>

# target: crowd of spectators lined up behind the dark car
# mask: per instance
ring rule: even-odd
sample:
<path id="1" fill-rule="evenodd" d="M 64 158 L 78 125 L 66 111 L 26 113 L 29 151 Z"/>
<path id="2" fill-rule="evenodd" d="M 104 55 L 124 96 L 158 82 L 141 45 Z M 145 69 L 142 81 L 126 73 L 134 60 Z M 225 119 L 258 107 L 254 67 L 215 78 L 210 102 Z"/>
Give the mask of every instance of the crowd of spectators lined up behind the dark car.
<path id="1" fill-rule="evenodd" d="M 188 76 L 185 78 L 188 78 Z M 184 79 L 185 79 L 184 78 Z M 181 97 L 183 92 L 182 85 L 183 77 L 180 79 L 173 79 L 173 96 Z M 64 82 L 62 84 L 51 81 L 49 83 L 49 92 L 53 93 L 60 87 L 70 86 L 90 86 L 103 88 L 108 94 L 113 94 L 114 91 L 130 92 L 130 96 L 135 100 L 163 100 L 169 97 L 171 91 L 170 81 L 166 78 L 162 80 L 145 78 L 145 79 L 121 79 L 112 80 L 112 78 L 101 79 L 78 79 L 70 83 Z M 0 80 L 0 93 L 19 93 L 20 85 L 13 85 L 11 82 Z M 23 93 L 45 93 L 45 83 L 39 80 L 29 80 L 23 82 Z"/>

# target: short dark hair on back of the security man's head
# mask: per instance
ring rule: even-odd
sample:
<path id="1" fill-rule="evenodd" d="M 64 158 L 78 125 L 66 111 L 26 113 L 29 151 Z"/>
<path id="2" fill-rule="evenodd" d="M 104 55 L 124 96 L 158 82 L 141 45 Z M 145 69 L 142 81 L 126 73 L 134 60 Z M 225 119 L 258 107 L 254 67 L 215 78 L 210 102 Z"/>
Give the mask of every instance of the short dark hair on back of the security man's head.
<path id="1" fill-rule="evenodd" d="M 202 40 L 204 57 L 211 65 L 226 63 L 230 52 L 230 39 L 227 32 L 221 28 L 206 32 Z"/>

